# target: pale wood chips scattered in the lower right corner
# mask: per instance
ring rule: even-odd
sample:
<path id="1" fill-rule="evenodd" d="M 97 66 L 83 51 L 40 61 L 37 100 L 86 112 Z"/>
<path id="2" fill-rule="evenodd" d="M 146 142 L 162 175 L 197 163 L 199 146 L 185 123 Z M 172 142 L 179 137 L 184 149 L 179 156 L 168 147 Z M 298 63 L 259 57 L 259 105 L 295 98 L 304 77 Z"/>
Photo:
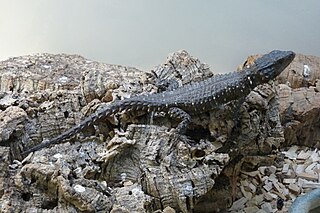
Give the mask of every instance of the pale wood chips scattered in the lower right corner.
<path id="1" fill-rule="evenodd" d="M 291 146 L 268 158 L 271 164 L 240 171 L 238 199 L 229 212 L 288 212 L 298 196 L 319 188 L 320 152 L 317 149 Z M 261 161 L 257 157 L 246 160 Z"/>

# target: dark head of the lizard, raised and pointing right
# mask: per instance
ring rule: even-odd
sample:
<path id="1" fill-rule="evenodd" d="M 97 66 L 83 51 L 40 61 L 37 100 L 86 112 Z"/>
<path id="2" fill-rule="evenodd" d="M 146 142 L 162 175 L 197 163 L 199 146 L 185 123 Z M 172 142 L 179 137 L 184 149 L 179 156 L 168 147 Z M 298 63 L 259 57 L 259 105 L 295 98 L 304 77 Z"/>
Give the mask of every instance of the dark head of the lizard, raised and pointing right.
<path id="1" fill-rule="evenodd" d="M 257 78 L 262 83 L 277 77 L 294 59 L 292 51 L 273 50 L 272 52 L 258 58 L 254 64 L 257 70 Z"/>

